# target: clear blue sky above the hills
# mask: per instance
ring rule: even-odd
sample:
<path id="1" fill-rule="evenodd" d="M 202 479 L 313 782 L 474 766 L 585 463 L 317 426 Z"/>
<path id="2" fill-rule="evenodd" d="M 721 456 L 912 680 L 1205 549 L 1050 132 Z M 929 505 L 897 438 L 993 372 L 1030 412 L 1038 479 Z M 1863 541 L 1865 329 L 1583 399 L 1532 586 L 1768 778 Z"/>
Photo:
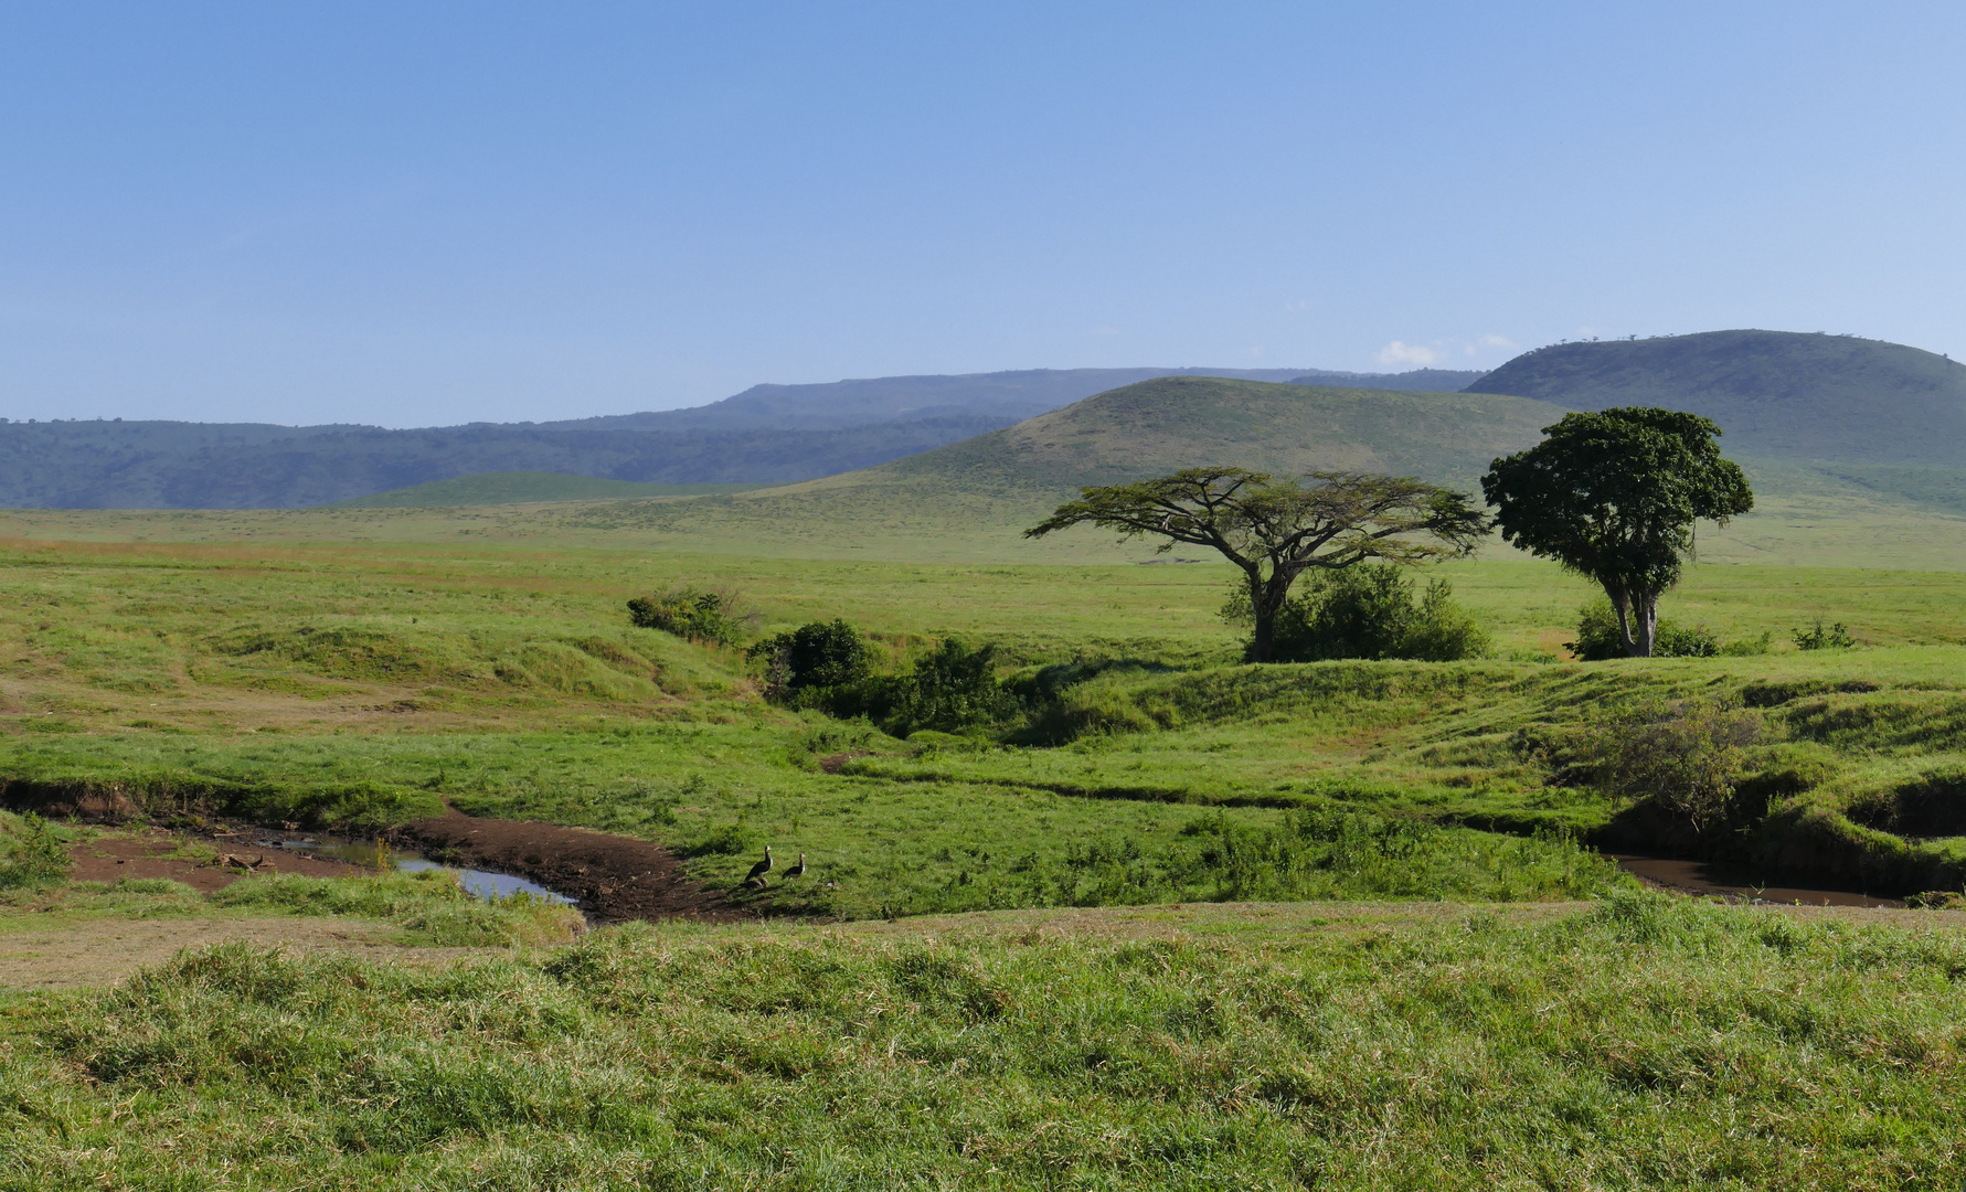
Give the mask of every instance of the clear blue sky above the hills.
<path id="1" fill-rule="evenodd" d="M 1966 4 L 0 8 L 0 415 L 1966 356 Z"/>

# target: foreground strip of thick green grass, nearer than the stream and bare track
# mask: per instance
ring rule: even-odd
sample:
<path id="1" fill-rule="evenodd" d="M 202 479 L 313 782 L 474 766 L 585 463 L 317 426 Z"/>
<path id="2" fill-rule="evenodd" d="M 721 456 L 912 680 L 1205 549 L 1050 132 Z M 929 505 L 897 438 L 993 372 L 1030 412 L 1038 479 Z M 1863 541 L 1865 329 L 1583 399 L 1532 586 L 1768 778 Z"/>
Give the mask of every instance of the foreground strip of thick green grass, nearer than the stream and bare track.
<path id="1" fill-rule="evenodd" d="M 1618 895 L 250 948 L 16 1005 L 8 1188 L 1952 1188 L 1966 934 Z M 142 1129 L 130 1129 L 142 1121 Z"/>

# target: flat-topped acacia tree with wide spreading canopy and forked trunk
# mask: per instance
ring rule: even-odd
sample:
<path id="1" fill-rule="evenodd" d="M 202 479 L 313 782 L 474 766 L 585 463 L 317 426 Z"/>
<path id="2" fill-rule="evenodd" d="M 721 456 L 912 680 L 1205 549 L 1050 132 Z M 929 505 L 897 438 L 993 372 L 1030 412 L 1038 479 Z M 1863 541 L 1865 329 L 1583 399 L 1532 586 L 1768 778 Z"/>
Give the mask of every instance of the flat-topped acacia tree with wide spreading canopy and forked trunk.
<path id="1" fill-rule="evenodd" d="M 1471 553 L 1488 529 L 1488 517 L 1465 494 L 1406 476 L 1311 472 L 1272 480 L 1246 468 L 1185 468 L 1138 484 L 1085 488 L 1024 537 L 1087 523 L 1125 539 L 1168 539 L 1160 553 L 1176 543 L 1209 547 L 1243 568 L 1256 622 L 1252 663 L 1274 657 L 1276 614 L 1290 584 L 1313 566 L 1449 559 Z"/>

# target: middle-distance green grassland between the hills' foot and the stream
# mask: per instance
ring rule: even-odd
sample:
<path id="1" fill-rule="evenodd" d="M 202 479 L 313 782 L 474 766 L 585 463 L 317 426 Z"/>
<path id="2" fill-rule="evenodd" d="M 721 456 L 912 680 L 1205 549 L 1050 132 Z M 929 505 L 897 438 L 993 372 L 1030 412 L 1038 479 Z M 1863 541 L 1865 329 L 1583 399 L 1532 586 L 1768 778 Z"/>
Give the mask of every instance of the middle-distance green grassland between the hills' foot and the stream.
<path id="1" fill-rule="evenodd" d="M 1771 812 L 1783 828 L 1744 842 L 1769 864 L 1937 889 L 1966 860 L 1944 834 L 1891 830 L 1966 753 L 1956 572 L 1699 566 L 1669 616 L 1773 653 L 1567 665 L 1587 586 L 1476 561 L 1441 574 L 1492 629 L 1490 661 L 1241 667 L 1213 618 L 1217 565 L 155 543 L 6 559 L 0 773 L 22 789 L 362 828 L 448 801 L 647 834 L 706 881 L 771 842 L 818 877 L 775 891 L 781 913 L 1386 893 L 1382 877 L 1329 885 L 1321 860 L 1360 832 L 1374 864 L 1416 848 L 1382 838 L 1386 816 L 1429 826 L 1437 871 L 1417 865 L 1408 895 L 1567 897 L 1600 877 L 1524 838 L 1618 838 L 1624 808 L 1565 785 L 1561 747 L 1642 688 L 1762 692 L 1760 773 L 1809 775 Z M 625 598 L 661 582 L 739 590 L 759 633 L 843 616 L 891 667 L 957 633 L 1075 683 L 997 740 L 896 742 L 765 704 L 735 651 L 629 627 Z M 1787 649 L 1815 618 L 1864 649 Z M 1244 838 L 1282 850 L 1274 873 L 1231 864 Z"/>

